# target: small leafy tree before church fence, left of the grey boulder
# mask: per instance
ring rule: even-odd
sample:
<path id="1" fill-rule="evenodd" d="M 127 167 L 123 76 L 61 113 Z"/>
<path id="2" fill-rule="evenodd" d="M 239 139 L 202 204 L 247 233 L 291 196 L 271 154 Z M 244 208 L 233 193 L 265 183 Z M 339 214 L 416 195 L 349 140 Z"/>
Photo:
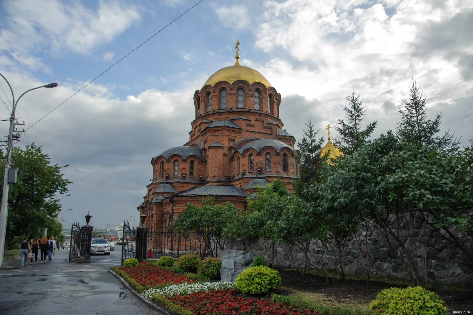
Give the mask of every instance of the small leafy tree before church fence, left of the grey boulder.
<path id="1" fill-rule="evenodd" d="M 174 229 L 183 234 L 192 231 L 200 233 L 210 256 L 217 257 L 217 249 L 223 250 L 225 245 L 222 230 L 227 224 L 227 217 L 236 211 L 235 205 L 230 202 L 217 205 L 213 198 L 203 198 L 201 207 L 192 203 L 185 205 L 185 210 L 174 220 Z"/>

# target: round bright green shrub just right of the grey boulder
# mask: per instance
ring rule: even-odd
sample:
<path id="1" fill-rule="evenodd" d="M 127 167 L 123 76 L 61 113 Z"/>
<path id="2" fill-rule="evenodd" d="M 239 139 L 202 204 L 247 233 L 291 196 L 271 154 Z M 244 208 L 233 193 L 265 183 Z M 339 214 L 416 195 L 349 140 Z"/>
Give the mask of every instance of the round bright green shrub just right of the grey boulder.
<path id="1" fill-rule="evenodd" d="M 263 294 L 277 289 L 281 282 L 279 272 L 269 267 L 250 267 L 236 277 L 236 288 L 243 293 Z"/>

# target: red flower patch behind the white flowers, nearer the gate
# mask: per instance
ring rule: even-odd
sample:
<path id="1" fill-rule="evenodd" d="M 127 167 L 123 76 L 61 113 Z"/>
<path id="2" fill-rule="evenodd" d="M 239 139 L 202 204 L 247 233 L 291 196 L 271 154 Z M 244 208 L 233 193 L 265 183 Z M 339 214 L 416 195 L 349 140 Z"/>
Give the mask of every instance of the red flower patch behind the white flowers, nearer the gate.
<path id="1" fill-rule="evenodd" d="M 140 263 L 139 266 L 135 267 L 119 267 L 119 269 L 126 272 L 132 279 L 145 287 L 195 282 L 193 279 L 176 275 L 172 271 L 163 270 L 149 263 Z"/>

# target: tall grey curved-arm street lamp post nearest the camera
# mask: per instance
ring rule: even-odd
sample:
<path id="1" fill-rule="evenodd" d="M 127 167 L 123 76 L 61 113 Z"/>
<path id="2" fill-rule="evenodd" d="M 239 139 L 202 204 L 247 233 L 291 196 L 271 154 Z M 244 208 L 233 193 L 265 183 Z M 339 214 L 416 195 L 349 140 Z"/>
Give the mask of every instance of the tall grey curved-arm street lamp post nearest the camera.
<path id="1" fill-rule="evenodd" d="M 0 267 L 3 266 L 3 252 L 5 249 L 5 237 L 7 232 L 7 220 L 8 220 L 8 190 L 9 190 L 9 170 L 10 170 L 10 163 L 11 163 L 11 149 L 13 148 L 13 131 L 15 129 L 15 113 L 17 110 L 18 101 L 20 100 L 21 96 L 24 96 L 29 91 L 35 90 L 41 87 L 57 87 L 57 83 L 49 83 L 46 85 L 42 85 L 40 87 L 30 88 L 26 92 L 24 92 L 20 97 L 18 97 L 17 101 L 15 102 L 15 94 L 13 93 L 13 89 L 11 88 L 10 82 L 0 73 L 0 76 L 7 81 L 8 87 L 11 91 L 11 96 L 13 102 L 12 109 L 11 109 L 11 116 L 10 116 L 10 128 L 8 132 L 8 149 L 7 149 L 7 159 L 5 161 L 5 174 L 3 176 L 3 193 L 2 193 L 2 200 L 1 200 L 1 207 L 0 207 Z M 15 176 L 12 176 L 15 177 Z M 16 182 L 16 178 L 12 183 Z"/>

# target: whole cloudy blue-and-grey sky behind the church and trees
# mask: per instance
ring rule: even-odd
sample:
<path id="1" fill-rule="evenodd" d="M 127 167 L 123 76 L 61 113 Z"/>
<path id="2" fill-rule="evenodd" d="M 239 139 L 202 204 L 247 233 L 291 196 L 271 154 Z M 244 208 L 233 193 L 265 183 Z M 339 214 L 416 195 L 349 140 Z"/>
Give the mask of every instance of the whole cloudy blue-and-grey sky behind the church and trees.
<path id="1" fill-rule="evenodd" d="M 0 72 L 30 127 L 198 0 L 3 0 Z M 236 4 L 237 3 L 237 4 Z M 411 76 L 443 112 L 443 131 L 473 135 L 473 2 L 462 0 L 203 0 L 82 92 L 35 124 L 18 146 L 35 142 L 65 165 L 73 184 L 64 215 L 92 225 L 138 219 L 151 157 L 188 141 L 192 97 L 216 70 L 259 70 L 282 95 L 281 119 L 296 139 L 308 118 L 324 131 L 343 118 L 353 86 L 394 129 Z M 1 81 L 0 117 L 11 96 Z M 3 104 L 5 102 L 6 105 Z M 8 134 L 8 122 L 0 122 Z M 66 225 L 65 225 L 66 227 Z"/>

